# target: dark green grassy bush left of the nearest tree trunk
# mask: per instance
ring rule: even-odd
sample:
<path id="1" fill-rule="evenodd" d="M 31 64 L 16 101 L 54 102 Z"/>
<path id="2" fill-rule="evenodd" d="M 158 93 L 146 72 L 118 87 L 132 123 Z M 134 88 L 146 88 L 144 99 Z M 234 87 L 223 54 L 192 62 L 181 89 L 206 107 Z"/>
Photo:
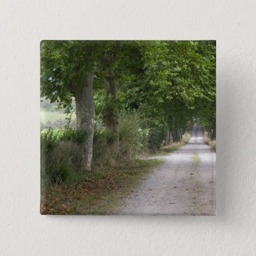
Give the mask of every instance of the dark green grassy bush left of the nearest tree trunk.
<path id="1" fill-rule="evenodd" d="M 67 184 L 80 172 L 81 141 L 73 129 L 41 132 L 41 172 L 47 184 Z"/>

